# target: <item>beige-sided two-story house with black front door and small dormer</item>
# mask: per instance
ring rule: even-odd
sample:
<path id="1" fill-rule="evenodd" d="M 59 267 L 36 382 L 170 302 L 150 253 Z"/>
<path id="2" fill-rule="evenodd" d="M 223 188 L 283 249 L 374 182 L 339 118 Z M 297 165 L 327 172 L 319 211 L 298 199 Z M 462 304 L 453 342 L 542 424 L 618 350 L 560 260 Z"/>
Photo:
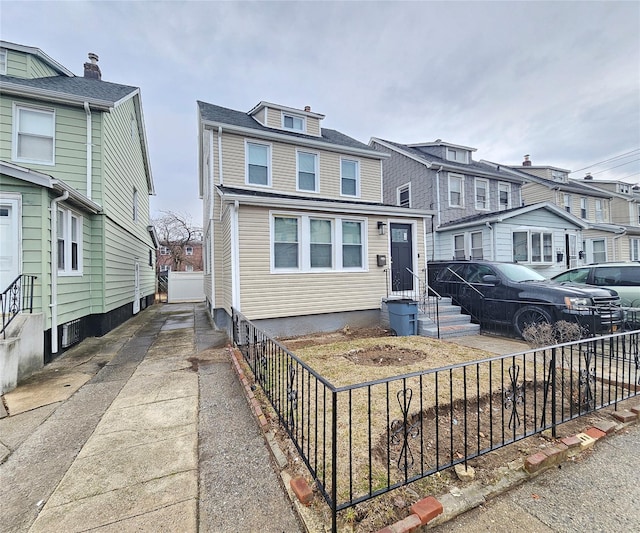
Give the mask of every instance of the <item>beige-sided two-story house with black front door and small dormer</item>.
<path id="1" fill-rule="evenodd" d="M 205 294 L 275 335 L 377 324 L 383 298 L 425 268 L 433 210 L 382 200 L 381 154 L 324 115 L 198 102 Z M 394 279 L 396 281 L 394 281 Z"/>

